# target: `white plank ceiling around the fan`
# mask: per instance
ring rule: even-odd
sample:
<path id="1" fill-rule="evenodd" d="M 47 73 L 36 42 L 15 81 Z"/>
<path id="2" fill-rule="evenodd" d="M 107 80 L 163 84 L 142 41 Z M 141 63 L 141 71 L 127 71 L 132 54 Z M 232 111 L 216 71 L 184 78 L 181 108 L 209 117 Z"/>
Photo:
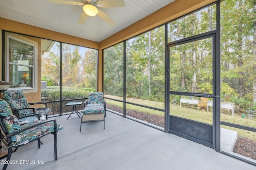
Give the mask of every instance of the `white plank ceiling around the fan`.
<path id="1" fill-rule="evenodd" d="M 0 0 L 0 18 L 100 42 L 173 1 L 124 0 L 125 7 L 100 8 L 116 22 L 113 27 L 97 15 L 79 25 L 83 6 L 52 4 L 48 0 Z"/>

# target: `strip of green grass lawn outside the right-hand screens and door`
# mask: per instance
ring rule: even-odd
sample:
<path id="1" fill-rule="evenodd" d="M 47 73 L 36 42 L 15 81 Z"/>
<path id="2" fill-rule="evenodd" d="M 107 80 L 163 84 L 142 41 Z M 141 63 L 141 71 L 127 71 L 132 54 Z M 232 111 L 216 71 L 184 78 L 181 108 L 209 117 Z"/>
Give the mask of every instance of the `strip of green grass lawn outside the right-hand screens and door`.
<path id="1" fill-rule="evenodd" d="M 108 96 L 108 95 L 105 95 L 105 96 L 109 97 L 109 98 L 123 100 L 122 97 Z M 106 99 L 106 102 L 108 104 L 112 104 L 112 105 L 123 108 L 122 102 L 116 102 L 114 100 L 108 100 L 108 99 Z M 148 100 L 139 100 L 139 99 L 131 99 L 131 98 L 127 98 L 127 102 L 132 102 L 132 103 L 141 104 L 141 105 L 145 105 L 145 106 L 151 106 L 151 107 L 164 109 L 164 103 L 162 103 L 162 102 L 152 102 L 152 101 L 148 101 Z M 126 108 L 136 110 L 136 111 L 142 111 L 145 113 L 164 116 L 164 112 L 162 112 L 162 111 L 152 110 L 152 109 L 148 109 L 145 107 L 134 106 L 131 104 L 127 104 Z M 170 115 L 175 115 L 178 117 L 183 117 L 186 119 L 191 119 L 194 121 L 199 121 L 199 122 L 208 123 L 208 124 L 212 125 L 212 111 L 202 111 L 202 110 L 198 110 L 196 107 L 195 108 L 180 107 L 179 104 L 177 104 L 177 105 L 170 104 Z M 225 122 L 229 122 L 229 123 L 235 123 L 238 125 L 244 125 L 244 126 L 249 126 L 249 127 L 256 127 L 256 118 L 254 118 L 254 119 L 249 119 L 247 117 L 244 118 L 240 114 L 236 114 L 236 113 L 234 116 L 232 116 L 231 113 L 230 114 L 229 113 L 220 113 L 220 119 L 221 119 L 221 121 L 225 121 Z M 228 126 L 221 126 L 221 127 L 237 131 L 239 136 L 248 137 L 248 138 L 256 141 L 256 133 L 255 132 L 245 131 L 242 129 L 237 129 L 237 128 L 228 127 Z"/>

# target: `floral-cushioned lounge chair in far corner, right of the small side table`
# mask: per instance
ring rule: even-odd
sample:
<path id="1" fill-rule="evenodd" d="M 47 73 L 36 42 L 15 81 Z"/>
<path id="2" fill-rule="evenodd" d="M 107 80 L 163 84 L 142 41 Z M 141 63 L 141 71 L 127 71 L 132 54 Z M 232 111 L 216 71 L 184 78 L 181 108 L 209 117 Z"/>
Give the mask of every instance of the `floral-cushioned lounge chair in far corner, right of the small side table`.
<path id="1" fill-rule="evenodd" d="M 103 99 L 103 93 L 90 93 L 88 96 L 88 100 L 84 102 L 84 109 L 81 113 L 83 114 L 80 123 L 80 131 L 82 123 L 95 121 L 104 121 L 105 129 L 106 101 Z"/>

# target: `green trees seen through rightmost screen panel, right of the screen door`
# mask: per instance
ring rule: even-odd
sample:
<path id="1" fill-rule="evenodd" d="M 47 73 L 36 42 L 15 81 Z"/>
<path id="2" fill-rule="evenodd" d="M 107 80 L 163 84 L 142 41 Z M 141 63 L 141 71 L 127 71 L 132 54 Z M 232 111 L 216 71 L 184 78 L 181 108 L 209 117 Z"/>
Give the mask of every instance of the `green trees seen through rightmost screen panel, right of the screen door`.
<path id="1" fill-rule="evenodd" d="M 222 78 L 240 97 L 252 90 L 253 73 L 253 0 L 226 0 L 222 2 Z M 232 73 L 230 74 L 232 70 Z M 224 77 L 229 75 L 229 77 Z M 232 77 L 230 77 L 232 75 Z"/>

